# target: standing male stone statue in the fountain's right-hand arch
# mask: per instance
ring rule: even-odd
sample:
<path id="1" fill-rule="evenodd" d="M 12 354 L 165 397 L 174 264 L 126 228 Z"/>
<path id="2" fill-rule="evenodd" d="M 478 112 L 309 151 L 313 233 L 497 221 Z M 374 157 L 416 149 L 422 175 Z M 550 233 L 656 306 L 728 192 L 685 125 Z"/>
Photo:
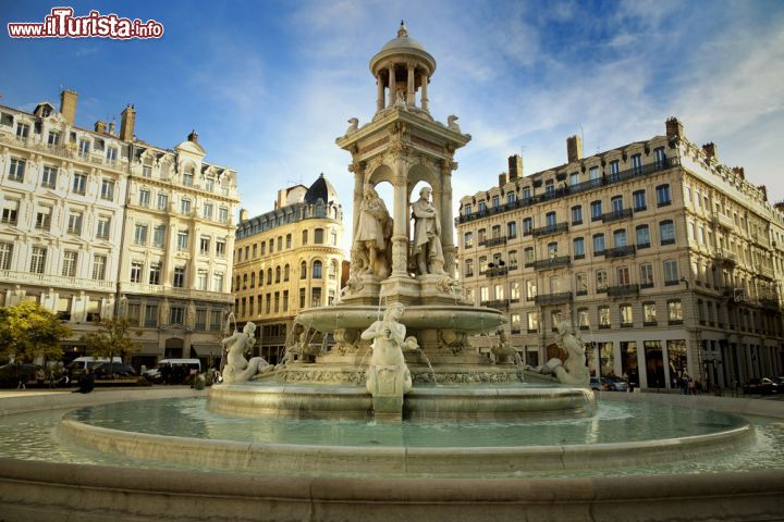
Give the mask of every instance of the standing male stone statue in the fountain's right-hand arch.
<path id="1" fill-rule="evenodd" d="M 441 220 L 430 201 L 432 189 L 419 190 L 419 199 L 412 203 L 414 217 L 414 251 L 418 274 L 443 274 L 443 251 L 441 249 Z"/>

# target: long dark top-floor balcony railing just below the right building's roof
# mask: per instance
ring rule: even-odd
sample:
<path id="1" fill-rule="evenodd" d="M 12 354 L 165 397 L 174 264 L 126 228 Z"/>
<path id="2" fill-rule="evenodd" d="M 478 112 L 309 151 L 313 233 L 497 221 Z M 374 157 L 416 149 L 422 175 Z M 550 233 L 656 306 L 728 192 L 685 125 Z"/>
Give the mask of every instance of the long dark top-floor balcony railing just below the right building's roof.
<path id="1" fill-rule="evenodd" d="M 627 179 L 632 179 L 634 177 L 647 176 L 648 174 L 652 174 L 652 173 L 659 172 L 659 171 L 664 171 L 672 166 L 677 166 L 679 164 L 681 164 L 679 158 L 677 158 L 677 157 L 667 158 L 661 162 L 649 163 L 647 165 L 642 165 L 641 167 L 637 167 L 637 169 L 628 169 L 626 171 L 622 171 L 616 174 L 609 174 L 599 179 L 590 179 L 590 181 L 578 183 L 576 185 L 572 185 L 568 187 L 558 188 L 558 189 L 551 190 L 549 192 L 538 194 L 538 195 L 531 196 L 529 198 L 520 198 L 520 199 L 517 199 L 513 204 L 503 204 L 497 209 L 491 208 L 491 209 L 483 210 L 481 212 L 474 212 L 470 214 L 462 214 L 458 217 L 455 217 L 455 223 L 456 224 L 467 223 L 469 221 L 474 221 L 474 220 L 477 220 L 480 217 L 487 217 L 487 216 L 493 215 L 493 214 L 510 212 L 514 209 L 531 207 L 534 204 L 541 203 L 543 201 L 550 201 L 550 200 L 558 199 L 558 198 L 564 198 L 564 197 L 571 196 L 573 194 L 585 192 L 585 191 L 593 190 L 593 189 L 604 187 L 608 185 L 615 185 L 617 183 L 623 183 Z"/>

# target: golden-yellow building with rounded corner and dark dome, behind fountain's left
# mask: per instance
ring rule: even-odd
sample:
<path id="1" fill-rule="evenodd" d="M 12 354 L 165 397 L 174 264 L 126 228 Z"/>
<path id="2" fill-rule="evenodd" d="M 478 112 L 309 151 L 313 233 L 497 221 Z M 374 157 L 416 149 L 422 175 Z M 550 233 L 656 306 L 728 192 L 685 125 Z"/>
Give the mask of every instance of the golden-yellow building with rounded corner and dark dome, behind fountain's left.
<path id="1" fill-rule="evenodd" d="M 256 356 L 280 361 L 297 312 L 339 298 L 342 239 L 343 210 L 323 174 L 310 187 L 279 190 L 269 212 L 240 212 L 234 313 L 240 327 L 248 321 L 258 326 Z"/>

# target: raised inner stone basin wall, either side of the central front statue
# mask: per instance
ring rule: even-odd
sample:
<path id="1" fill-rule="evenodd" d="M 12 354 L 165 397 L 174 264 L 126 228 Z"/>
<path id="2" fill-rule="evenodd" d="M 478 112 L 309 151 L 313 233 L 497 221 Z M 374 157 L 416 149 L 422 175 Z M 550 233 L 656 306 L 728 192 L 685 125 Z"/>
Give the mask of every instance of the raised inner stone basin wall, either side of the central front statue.
<path id="1" fill-rule="evenodd" d="M 247 418 L 372 419 L 364 386 L 253 382 L 212 386 L 208 408 Z M 502 420 L 588 417 L 593 391 L 564 386 L 417 386 L 404 397 L 404 419 Z"/>

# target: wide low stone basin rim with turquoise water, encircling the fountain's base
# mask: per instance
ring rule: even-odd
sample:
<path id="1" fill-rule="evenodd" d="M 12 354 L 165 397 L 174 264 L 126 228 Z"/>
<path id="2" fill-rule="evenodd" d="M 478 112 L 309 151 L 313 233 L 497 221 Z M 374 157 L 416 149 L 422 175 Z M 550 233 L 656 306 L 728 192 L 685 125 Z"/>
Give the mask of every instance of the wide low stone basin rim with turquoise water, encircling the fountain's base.
<path id="1" fill-rule="evenodd" d="M 150 410 L 152 412 L 170 412 L 163 417 L 177 417 L 172 405 L 148 406 L 154 408 Z M 191 427 L 176 425 L 176 430 L 173 430 L 172 425 L 170 431 L 194 432 L 196 436 L 182 437 L 125 427 L 127 424 L 123 415 L 101 407 L 96 407 L 95 412 L 90 410 L 77 410 L 63 418 L 58 426 L 59 438 L 72 446 L 132 458 L 231 471 L 284 474 L 509 476 L 516 473 L 596 468 L 640 468 L 738 452 L 754 439 L 754 428 L 748 422 L 732 415 L 721 415 L 722 421 L 715 426 L 700 426 L 694 435 L 677 436 L 677 432 L 683 431 L 687 423 L 661 439 L 647 437 L 596 444 L 571 444 L 571 440 L 564 439 L 562 443 L 554 442 L 555 444 L 525 445 L 515 444 L 512 437 L 511 440 L 497 442 L 497 446 L 471 446 L 465 444 L 465 440 L 458 446 L 449 446 L 450 442 L 461 440 L 460 437 L 465 436 L 452 433 L 451 424 L 441 427 L 439 424 L 412 425 L 411 430 L 366 426 L 365 422 L 321 421 L 304 425 L 302 421 L 292 421 L 289 424 L 270 421 L 254 424 L 232 423 L 228 419 L 211 414 L 204 419 L 199 415 L 203 420 L 193 422 L 188 421 L 187 409 L 180 417 L 184 422 L 189 422 Z M 703 421 L 699 419 L 697 424 L 706 424 L 707 418 Z M 564 422 L 574 427 L 574 421 Z M 583 432 L 584 428 L 580 428 L 575 433 L 590 438 L 590 423 L 593 421 L 585 422 L 588 424 L 580 424 L 587 427 L 587 431 Z M 105 423 L 106 425 L 102 425 Z M 565 426 L 561 426 L 561 430 Z M 244 434 L 245 430 L 249 430 L 248 434 Z M 298 430 L 313 433 L 296 435 Z M 471 434 L 485 433 L 481 426 L 473 424 L 468 427 L 462 425 L 457 430 L 470 430 Z M 487 430 L 504 430 L 504 426 L 488 425 Z M 420 439 L 417 434 L 425 434 L 425 438 Z M 336 437 L 332 444 L 329 440 L 307 443 L 328 439 L 330 435 Z M 368 436 L 371 438 L 365 438 Z M 229 439 L 230 437 L 241 439 Z M 436 440 L 432 437 L 436 437 Z M 364 444 L 357 445 L 359 443 Z M 488 440 L 478 443 L 488 444 Z"/>

